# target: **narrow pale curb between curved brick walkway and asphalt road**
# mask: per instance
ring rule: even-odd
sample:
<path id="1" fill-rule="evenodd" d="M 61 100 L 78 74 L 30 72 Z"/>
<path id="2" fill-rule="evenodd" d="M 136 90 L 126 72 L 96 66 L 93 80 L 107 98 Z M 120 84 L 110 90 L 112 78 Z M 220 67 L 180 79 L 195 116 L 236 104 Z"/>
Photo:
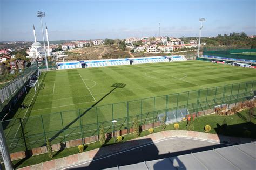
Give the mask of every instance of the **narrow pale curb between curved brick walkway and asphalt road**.
<path id="1" fill-rule="evenodd" d="M 174 138 L 167 138 L 167 139 L 159 139 L 159 140 L 157 140 L 157 141 L 153 141 L 152 143 L 145 144 L 145 145 L 143 145 L 143 146 L 133 147 L 133 148 L 130 148 L 129 150 L 125 150 L 125 151 L 122 151 L 122 152 L 114 153 L 114 154 L 107 155 L 107 156 L 102 157 L 102 158 L 98 158 L 98 159 L 86 161 L 86 162 L 83 162 L 83 163 L 80 163 L 80 164 L 68 166 L 68 167 L 65 167 L 65 168 L 62 168 L 62 169 L 70 169 L 70 168 L 72 168 L 72 167 L 76 167 L 76 166 L 83 165 L 83 164 L 87 164 L 87 163 L 90 163 L 90 162 L 93 162 L 93 161 L 105 159 L 105 158 L 108 158 L 108 157 L 112 157 L 112 156 L 114 156 L 114 155 L 118 155 L 118 154 L 120 154 L 120 153 L 129 152 L 129 151 L 132 151 L 132 150 L 137 150 L 138 148 L 141 148 L 141 147 L 145 147 L 145 146 L 148 146 L 148 145 L 157 144 L 157 143 L 160 143 L 161 141 L 172 140 L 172 139 L 190 139 L 190 140 L 205 141 L 205 142 L 208 142 L 208 143 L 223 144 L 223 145 L 229 145 L 229 146 L 231 146 L 231 144 L 219 143 L 219 142 L 216 142 L 216 141 L 209 141 L 209 140 L 202 140 L 202 139 L 193 139 L 193 138 L 187 138 L 187 137 L 174 137 Z"/>

